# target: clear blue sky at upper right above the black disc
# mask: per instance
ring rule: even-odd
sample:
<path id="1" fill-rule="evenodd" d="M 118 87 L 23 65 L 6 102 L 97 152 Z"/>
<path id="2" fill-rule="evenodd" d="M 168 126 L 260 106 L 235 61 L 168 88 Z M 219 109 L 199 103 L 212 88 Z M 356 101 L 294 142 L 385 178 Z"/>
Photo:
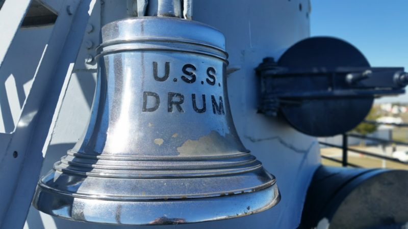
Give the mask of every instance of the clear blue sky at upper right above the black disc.
<path id="1" fill-rule="evenodd" d="M 373 67 L 408 70 L 408 0 L 311 0 L 311 35 L 342 38 Z M 381 101 L 408 103 L 408 94 Z"/>

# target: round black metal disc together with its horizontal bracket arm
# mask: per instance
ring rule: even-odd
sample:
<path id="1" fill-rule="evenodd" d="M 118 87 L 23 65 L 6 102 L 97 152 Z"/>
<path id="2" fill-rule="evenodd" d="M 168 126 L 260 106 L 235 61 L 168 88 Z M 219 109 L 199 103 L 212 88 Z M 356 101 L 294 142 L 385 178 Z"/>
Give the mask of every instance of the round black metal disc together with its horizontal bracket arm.
<path id="1" fill-rule="evenodd" d="M 279 113 L 299 131 L 331 136 L 364 120 L 374 98 L 405 92 L 404 68 L 371 67 L 354 46 L 339 39 L 308 38 L 275 62 L 265 58 L 259 111 Z"/>

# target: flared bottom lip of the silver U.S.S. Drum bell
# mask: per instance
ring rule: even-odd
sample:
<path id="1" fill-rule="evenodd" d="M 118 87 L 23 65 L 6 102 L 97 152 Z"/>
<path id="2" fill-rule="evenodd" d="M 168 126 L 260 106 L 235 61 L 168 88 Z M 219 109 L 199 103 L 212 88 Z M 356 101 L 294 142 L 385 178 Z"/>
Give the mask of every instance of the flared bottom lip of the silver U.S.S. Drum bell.
<path id="1" fill-rule="evenodd" d="M 41 203 L 40 197 L 46 201 Z M 37 186 L 32 204 L 41 212 L 73 221 L 110 225 L 171 225 L 252 215 L 274 207 L 280 200 L 281 193 L 276 183 L 242 194 L 136 202 L 67 196 Z M 58 206 L 56 203 L 70 205 Z M 155 216 L 146 215 L 145 212 L 152 212 Z M 142 213 L 139 214 L 141 217 L 138 217 L 138 213 Z"/>

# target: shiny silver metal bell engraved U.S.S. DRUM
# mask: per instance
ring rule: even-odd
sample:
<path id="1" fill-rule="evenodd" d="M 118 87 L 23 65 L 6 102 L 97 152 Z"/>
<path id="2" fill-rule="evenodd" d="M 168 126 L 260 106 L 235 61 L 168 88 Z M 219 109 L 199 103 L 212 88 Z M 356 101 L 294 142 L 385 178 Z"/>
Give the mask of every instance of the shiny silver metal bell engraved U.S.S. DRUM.
<path id="1" fill-rule="evenodd" d="M 34 207 L 145 225 L 240 217 L 279 202 L 275 178 L 234 127 L 219 31 L 139 17 L 105 25 L 102 39 L 88 128 L 38 182 Z"/>

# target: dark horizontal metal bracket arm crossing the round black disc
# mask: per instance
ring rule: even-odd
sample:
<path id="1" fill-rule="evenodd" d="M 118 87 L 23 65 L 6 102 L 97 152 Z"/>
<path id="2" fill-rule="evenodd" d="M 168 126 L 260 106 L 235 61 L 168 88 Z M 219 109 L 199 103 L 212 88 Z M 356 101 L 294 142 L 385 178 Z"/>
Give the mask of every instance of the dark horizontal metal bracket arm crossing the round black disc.
<path id="1" fill-rule="evenodd" d="M 260 111 L 269 115 L 276 115 L 279 106 L 293 100 L 299 103 L 310 98 L 402 94 L 408 82 L 404 68 L 286 68 L 278 66 L 273 58 L 265 58 L 256 71 L 261 76 L 263 89 Z M 299 88 L 301 81 L 313 81 L 313 87 Z"/>

